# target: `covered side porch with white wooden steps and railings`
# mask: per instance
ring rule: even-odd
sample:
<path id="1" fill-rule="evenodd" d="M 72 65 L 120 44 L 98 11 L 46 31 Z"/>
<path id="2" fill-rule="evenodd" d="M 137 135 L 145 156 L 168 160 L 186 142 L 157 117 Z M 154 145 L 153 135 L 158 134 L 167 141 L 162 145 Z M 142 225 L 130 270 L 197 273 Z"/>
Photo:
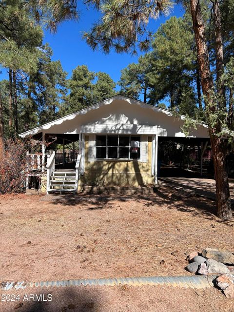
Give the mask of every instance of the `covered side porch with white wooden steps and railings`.
<path id="1" fill-rule="evenodd" d="M 40 187 L 48 193 L 65 192 L 77 193 L 80 177 L 81 153 L 80 148 L 75 149 L 75 142 L 79 135 L 41 134 L 34 136 L 41 144 L 41 153 L 26 155 L 27 180 L 26 188 L 30 187 L 30 179 L 38 178 Z M 57 150 L 58 145 L 61 150 Z M 66 145 L 72 148 L 65 149 Z M 80 147 L 80 142 L 78 144 Z M 57 151 L 55 151 L 55 150 Z"/>

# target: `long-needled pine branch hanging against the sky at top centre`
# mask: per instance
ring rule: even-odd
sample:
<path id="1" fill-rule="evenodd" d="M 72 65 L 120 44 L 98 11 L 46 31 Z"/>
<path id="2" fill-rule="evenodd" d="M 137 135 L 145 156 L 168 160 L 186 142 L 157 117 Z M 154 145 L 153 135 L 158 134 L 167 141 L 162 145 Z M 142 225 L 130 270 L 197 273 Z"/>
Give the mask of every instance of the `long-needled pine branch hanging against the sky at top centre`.
<path id="1" fill-rule="evenodd" d="M 98 4 L 101 19 L 83 37 L 92 49 L 98 47 L 109 53 L 113 47 L 117 53 L 131 52 L 137 48 L 147 51 L 151 32 L 146 26 L 150 18 L 168 15 L 173 4 L 170 0 L 102 0 Z"/>

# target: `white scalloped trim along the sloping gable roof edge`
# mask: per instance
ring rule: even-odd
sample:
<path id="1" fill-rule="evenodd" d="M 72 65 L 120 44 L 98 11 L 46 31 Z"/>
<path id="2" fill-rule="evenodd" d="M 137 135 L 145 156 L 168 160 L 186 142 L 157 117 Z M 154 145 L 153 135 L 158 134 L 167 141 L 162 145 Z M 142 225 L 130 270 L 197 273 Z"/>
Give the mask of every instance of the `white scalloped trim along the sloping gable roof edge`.
<path id="1" fill-rule="evenodd" d="M 144 103 L 142 101 L 139 101 L 139 100 L 136 100 L 136 99 L 133 99 L 133 98 L 127 98 L 125 96 L 122 96 L 122 95 L 118 94 L 118 95 L 116 95 L 114 97 L 107 98 L 107 99 L 105 99 L 103 101 L 100 101 L 100 102 L 98 102 L 96 104 L 93 104 L 93 105 L 90 105 L 88 107 L 85 107 L 85 108 L 83 108 L 83 109 L 81 109 L 81 110 L 79 110 L 79 111 L 77 111 L 75 113 L 66 115 L 64 117 L 61 117 L 59 119 L 50 121 L 48 123 L 45 123 L 45 124 L 43 124 L 41 126 L 33 128 L 31 130 L 25 131 L 25 132 L 21 133 L 19 136 L 23 137 L 23 138 L 35 136 L 35 135 L 41 133 L 43 130 L 49 129 L 51 126 L 60 125 L 60 124 L 62 124 L 66 120 L 72 120 L 75 117 L 77 117 L 79 115 L 84 115 L 84 114 L 88 113 L 91 110 L 96 110 L 96 109 L 100 108 L 101 106 L 109 105 L 109 104 L 111 104 L 115 100 L 123 100 L 123 101 L 126 101 L 126 102 L 128 102 L 129 104 L 132 104 L 132 105 L 140 105 L 142 108 L 152 109 L 155 112 L 161 112 L 161 113 L 164 113 L 164 114 L 166 114 L 168 116 L 173 116 L 173 113 L 171 111 L 167 110 L 167 109 L 159 108 L 157 106 L 153 106 L 151 104 Z M 184 115 L 180 115 L 180 116 L 178 116 L 178 118 L 180 118 L 181 120 L 184 120 L 186 117 Z M 203 124 L 203 126 L 207 127 L 205 124 Z"/>

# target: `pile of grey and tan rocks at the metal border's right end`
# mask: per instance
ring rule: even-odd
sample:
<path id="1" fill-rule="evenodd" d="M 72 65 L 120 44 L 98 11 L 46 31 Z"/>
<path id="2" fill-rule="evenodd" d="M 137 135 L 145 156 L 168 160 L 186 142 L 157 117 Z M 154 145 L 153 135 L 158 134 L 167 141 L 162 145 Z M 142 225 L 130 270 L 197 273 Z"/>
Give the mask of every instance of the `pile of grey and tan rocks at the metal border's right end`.
<path id="1" fill-rule="evenodd" d="M 227 298 L 234 298 L 234 254 L 228 250 L 205 248 L 202 253 L 189 255 L 186 269 L 202 275 L 220 274 L 215 286 L 223 291 Z"/>

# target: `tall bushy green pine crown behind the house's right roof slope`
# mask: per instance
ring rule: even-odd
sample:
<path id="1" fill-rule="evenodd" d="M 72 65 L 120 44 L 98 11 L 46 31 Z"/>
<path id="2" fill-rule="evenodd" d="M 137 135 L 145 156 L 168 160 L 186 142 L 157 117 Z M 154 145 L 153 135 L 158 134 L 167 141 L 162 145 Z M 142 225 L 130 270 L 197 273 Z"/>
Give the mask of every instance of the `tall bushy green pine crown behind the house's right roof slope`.
<path id="1" fill-rule="evenodd" d="M 196 55 L 191 22 L 187 16 L 183 19 L 172 17 L 159 27 L 154 38 L 152 70 L 148 74 L 152 86 L 149 102 L 154 104 L 168 96 L 173 108 L 180 104 L 183 90 L 191 89 L 195 79 Z M 192 98 L 195 106 L 195 94 Z"/>

